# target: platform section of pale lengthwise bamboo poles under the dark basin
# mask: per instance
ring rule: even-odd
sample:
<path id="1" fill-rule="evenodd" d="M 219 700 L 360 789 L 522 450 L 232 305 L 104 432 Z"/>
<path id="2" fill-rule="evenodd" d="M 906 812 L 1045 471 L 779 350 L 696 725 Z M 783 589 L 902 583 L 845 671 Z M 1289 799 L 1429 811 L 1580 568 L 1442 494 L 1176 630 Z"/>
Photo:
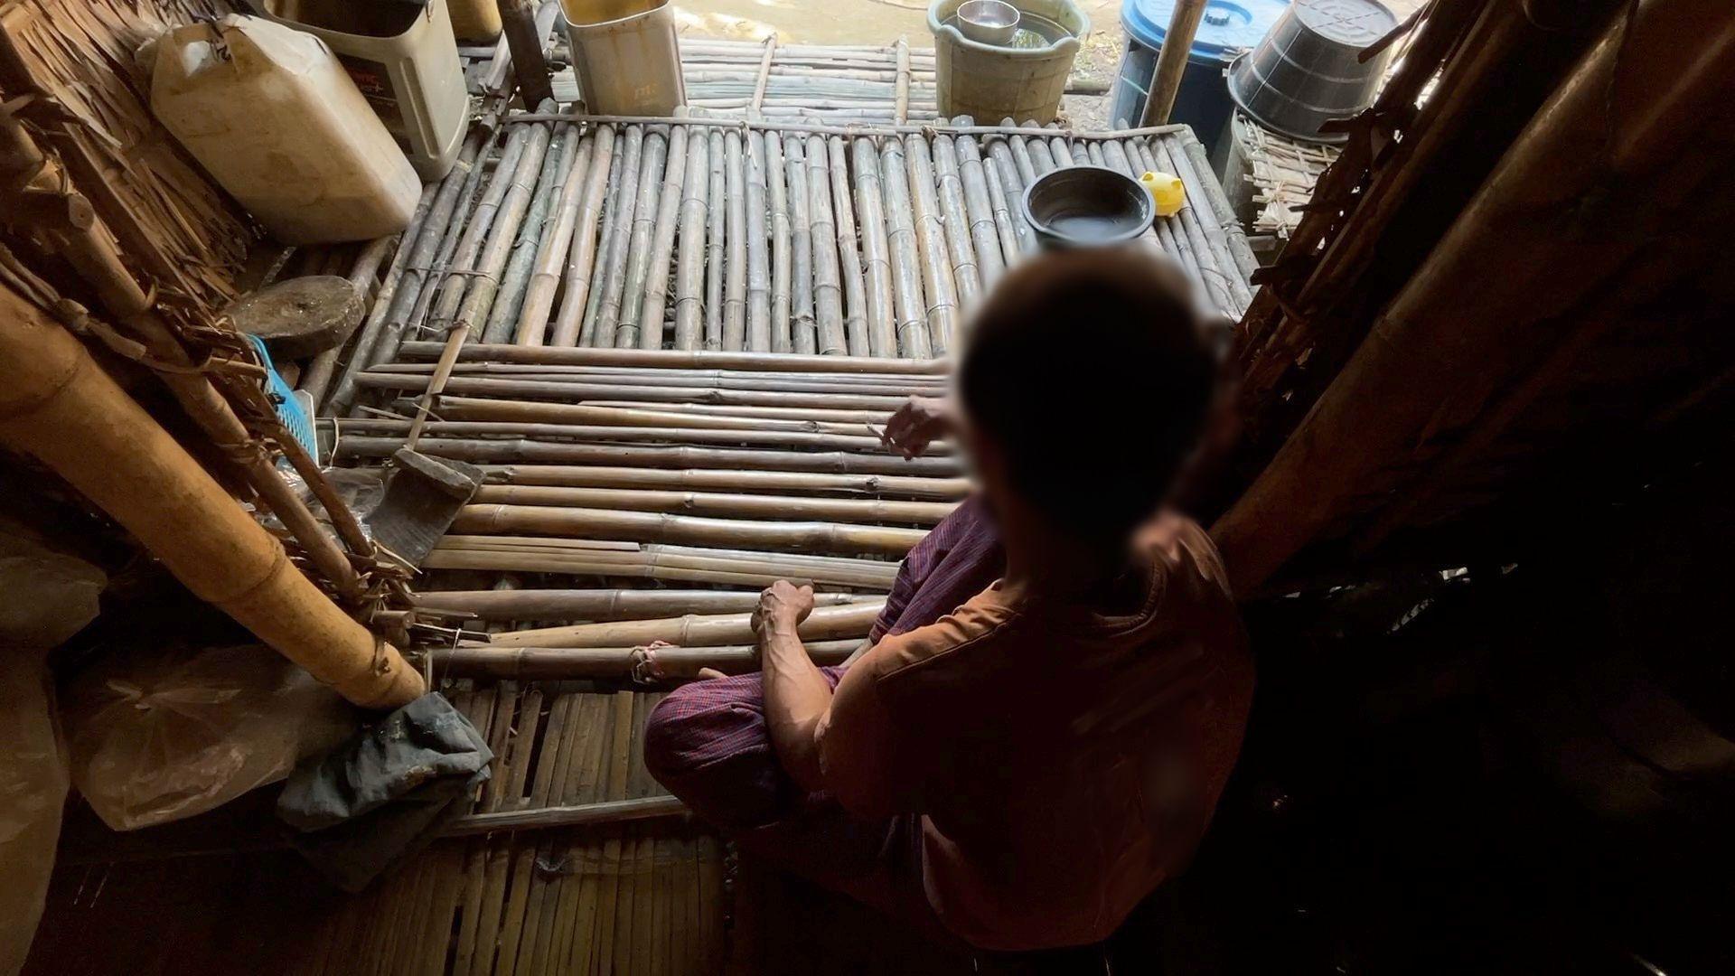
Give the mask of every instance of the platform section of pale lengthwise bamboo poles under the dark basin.
<path id="1" fill-rule="evenodd" d="M 477 165 L 455 168 L 404 234 L 392 266 L 413 274 L 375 307 L 380 339 L 352 356 L 328 413 L 406 339 L 458 326 L 458 344 L 944 356 L 972 302 L 1034 254 L 1020 200 L 1055 167 L 1182 175 L 1190 205 L 1147 245 L 1225 314 L 1251 300 L 1253 254 L 1185 129 L 566 118 L 512 116 L 472 139 Z M 508 254 L 534 254 L 536 273 L 496 281 Z"/>

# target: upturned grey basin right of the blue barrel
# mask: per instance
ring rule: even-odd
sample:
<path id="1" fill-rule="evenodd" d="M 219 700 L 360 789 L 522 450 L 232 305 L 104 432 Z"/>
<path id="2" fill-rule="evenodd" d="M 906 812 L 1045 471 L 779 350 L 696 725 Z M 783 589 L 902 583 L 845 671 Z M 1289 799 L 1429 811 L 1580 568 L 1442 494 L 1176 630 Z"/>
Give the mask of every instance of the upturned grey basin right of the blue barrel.
<path id="1" fill-rule="evenodd" d="M 1398 19 L 1378 0 L 1296 0 L 1251 52 L 1228 66 L 1228 94 L 1254 122 L 1291 139 L 1343 142 L 1319 127 L 1374 101 L 1393 47 L 1362 49 Z"/>

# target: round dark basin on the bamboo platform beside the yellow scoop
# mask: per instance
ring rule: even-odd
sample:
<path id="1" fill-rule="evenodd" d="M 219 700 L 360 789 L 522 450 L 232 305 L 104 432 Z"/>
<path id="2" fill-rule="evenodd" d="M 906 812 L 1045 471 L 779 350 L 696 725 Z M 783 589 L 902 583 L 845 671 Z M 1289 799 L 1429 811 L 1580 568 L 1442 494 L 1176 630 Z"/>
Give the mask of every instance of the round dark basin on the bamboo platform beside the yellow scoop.
<path id="1" fill-rule="evenodd" d="M 1067 167 L 1024 191 L 1024 217 L 1048 248 L 1117 245 L 1150 228 L 1157 207 L 1136 179 L 1103 167 Z"/>

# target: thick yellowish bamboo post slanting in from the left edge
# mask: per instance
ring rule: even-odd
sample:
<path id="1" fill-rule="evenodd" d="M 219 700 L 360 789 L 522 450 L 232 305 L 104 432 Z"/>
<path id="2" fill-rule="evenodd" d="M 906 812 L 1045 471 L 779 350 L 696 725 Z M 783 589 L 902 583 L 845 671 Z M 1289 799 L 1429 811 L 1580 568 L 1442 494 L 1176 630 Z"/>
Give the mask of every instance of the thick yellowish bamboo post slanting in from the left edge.
<path id="1" fill-rule="evenodd" d="M 425 691 L 396 648 L 300 575 L 69 332 L 10 287 L 0 287 L 0 441 L 64 478 L 194 596 L 350 702 L 392 709 Z"/>

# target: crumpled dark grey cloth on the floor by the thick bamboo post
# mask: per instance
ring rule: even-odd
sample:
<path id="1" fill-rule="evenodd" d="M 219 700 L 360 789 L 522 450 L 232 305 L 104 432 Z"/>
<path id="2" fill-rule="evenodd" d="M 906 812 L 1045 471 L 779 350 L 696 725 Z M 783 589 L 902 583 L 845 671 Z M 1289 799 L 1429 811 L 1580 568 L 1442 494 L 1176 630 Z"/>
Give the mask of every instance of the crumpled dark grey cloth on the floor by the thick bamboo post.
<path id="1" fill-rule="evenodd" d="M 278 816 L 321 874 L 361 891 L 463 816 L 493 757 L 470 719 L 423 695 L 291 773 Z"/>

